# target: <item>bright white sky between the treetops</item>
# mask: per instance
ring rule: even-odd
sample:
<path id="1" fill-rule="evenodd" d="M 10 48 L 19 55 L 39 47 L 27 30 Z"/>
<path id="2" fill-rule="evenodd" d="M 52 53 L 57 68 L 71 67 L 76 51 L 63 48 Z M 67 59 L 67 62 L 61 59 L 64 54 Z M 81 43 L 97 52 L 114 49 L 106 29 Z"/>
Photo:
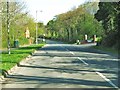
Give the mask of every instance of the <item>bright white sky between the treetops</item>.
<path id="1" fill-rule="evenodd" d="M 69 11 L 73 7 L 77 7 L 84 3 L 86 0 L 24 0 L 27 9 L 37 21 L 42 21 L 46 24 L 55 15 Z M 42 12 L 40 12 L 42 11 Z"/>

